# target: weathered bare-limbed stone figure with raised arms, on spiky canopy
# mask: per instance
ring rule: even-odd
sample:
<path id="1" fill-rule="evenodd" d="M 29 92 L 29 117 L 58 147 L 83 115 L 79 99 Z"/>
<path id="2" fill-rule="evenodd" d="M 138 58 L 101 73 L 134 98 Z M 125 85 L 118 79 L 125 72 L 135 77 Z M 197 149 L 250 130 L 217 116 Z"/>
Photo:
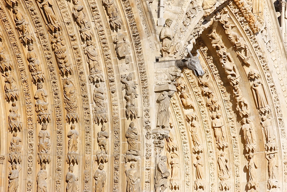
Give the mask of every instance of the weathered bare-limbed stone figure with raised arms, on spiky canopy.
<path id="1" fill-rule="evenodd" d="M 136 94 L 136 85 L 132 81 L 131 73 L 127 75 L 122 75 L 121 76 L 121 82 L 123 83 L 122 90 L 125 89 L 125 100 L 127 101 L 126 103 L 126 115 L 129 118 L 137 117 L 137 107 L 135 106 L 135 98 L 137 97 Z"/>

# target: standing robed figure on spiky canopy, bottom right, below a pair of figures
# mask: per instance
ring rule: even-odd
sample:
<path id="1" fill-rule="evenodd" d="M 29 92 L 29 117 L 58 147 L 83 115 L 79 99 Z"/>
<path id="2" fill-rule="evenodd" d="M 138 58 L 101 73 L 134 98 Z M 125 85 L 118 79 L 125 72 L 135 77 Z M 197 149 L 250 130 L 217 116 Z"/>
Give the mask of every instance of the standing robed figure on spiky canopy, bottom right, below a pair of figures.
<path id="1" fill-rule="evenodd" d="M 228 161 L 229 160 L 225 157 L 225 153 L 222 152 L 218 157 L 218 178 L 220 179 L 219 189 L 221 191 L 224 189 L 229 190 L 231 187 L 228 181 L 230 178 L 230 168 L 227 165 Z"/>

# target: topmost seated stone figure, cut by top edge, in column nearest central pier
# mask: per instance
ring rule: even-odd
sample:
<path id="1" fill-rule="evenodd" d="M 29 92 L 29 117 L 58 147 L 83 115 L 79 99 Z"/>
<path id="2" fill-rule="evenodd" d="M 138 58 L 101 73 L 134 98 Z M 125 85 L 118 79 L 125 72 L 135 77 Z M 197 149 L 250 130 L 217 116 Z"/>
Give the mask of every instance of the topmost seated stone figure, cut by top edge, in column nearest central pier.
<path id="1" fill-rule="evenodd" d="M 108 17 L 110 18 L 110 25 L 114 29 L 120 28 L 123 22 L 119 16 L 118 8 L 117 5 L 115 5 L 114 0 L 102 0 L 102 2 L 106 7 Z"/>

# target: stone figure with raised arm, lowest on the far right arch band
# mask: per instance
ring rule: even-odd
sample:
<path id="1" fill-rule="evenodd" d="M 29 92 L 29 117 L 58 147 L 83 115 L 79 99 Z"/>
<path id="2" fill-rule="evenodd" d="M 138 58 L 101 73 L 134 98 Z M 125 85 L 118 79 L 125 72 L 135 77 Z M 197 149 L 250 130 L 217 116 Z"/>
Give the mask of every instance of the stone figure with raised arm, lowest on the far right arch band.
<path id="1" fill-rule="evenodd" d="M 278 156 L 275 153 L 265 155 L 266 159 L 268 160 L 268 184 L 267 187 L 270 190 L 271 188 L 279 187 L 278 180 L 277 180 L 277 173 L 278 173 Z"/>

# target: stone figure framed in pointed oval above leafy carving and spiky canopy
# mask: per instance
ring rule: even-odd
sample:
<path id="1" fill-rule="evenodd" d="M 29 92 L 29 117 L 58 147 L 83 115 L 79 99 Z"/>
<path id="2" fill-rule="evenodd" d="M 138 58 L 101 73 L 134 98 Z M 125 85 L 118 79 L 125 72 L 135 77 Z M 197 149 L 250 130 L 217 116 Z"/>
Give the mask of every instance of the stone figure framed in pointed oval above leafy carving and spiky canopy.
<path id="1" fill-rule="evenodd" d="M 75 85 L 70 78 L 63 79 L 63 92 L 64 92 L 64 102 L 66 110 L 66 121 L 75 122 L 79 119 L 79 114 L 77 113 L 77 93 Z"/>

